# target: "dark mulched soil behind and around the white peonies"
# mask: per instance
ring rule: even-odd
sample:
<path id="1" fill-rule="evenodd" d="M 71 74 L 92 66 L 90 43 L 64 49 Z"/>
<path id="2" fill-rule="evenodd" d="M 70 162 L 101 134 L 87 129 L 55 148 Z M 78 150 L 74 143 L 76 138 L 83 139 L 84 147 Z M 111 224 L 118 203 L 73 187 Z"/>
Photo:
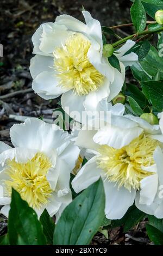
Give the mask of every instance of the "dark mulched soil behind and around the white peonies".
<path id="1" fill-rule="evenodd" d="M 0 139 L 11 144 L 9 129 L 14 123 L 11 115 L 52 118 L 52 109 L 57 107 L 59 99 L 45 101 L 34 94 L 31 88 L 32 79 L 29 63 L 32 57 L 31 37 L 36 28 L 43 22 L 55 20 L 60 14 L 70 14 L 83 21 L 82 5 L 102 25 L 114 26 L 130 22 L 129 0 L 1 0 L 0 44 L 3 55 L 0 57 Z M 117 31 L 126 35 L 128 31 Z M 110 39 L 112 40 L 112 39 Z M 29 90 L 26 91 L 26 89 Z M 21 93 L 20 91 L 23 90 Z M 19 94 L 13 95 L 14 92 Z M 0 235 L 7 232 L 7 220 L 0 216 Z M 144 245 L 149 244 L 145 232 L 145 222 L 141 222 L 127 234 L 122 228 L 109 230 L 109 239 L 97 234 L 92 243 L 110 245 Z"/>

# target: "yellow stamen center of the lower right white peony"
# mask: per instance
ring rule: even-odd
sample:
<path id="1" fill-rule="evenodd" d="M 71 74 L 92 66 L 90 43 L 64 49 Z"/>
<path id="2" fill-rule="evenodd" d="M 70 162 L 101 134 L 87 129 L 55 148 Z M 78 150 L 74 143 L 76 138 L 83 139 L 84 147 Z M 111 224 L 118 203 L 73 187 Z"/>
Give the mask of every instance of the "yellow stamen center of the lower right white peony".
<path id="1" fill-rule="evenodd" d="M 153 153 L 159 142 L 142 133 L 139 137 L 121 149 L 101 145 L 97 164 L 103 169 L 106 178 L 124 186 L 139 189 L 140 181 L 153 173 L 143 170 L 154 164 Z"/>

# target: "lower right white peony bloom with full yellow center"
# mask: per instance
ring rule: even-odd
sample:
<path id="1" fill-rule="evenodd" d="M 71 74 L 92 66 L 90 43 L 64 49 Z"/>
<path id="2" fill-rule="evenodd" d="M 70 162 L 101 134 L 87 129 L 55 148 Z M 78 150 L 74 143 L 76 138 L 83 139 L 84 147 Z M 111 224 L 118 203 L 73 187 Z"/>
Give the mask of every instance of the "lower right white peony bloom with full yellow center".
<path id="1" fill-rule="evenodd" d="M 105 190 L 105 215 L 109 219 L 120 219 L 134 203 L 136 191 L 141 181 L 152 178 L 156 172 L 153 153 L 161 146 L 159 125 L 150 125 L 147 121 L 111 115 L 111 123 L 97 131 L 79 131 L 76 144 L 91 149 L 94 156 L 80 169 L 72 181 L 77 193 L 103 179 Z M 116 113 L 115 112 L 115 113 Z M 153 168 L 154 167 L 154 168 Z"/>

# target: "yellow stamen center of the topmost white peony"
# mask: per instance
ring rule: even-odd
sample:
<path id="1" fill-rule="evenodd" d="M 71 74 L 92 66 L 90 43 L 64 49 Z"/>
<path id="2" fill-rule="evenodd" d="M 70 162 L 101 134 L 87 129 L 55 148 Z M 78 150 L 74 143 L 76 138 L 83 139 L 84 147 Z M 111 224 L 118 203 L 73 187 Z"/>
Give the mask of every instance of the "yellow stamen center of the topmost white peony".
<path id="1" fill-rule="evenodd" d="M 84 35 L 71 35 L 65 45 L 56 48 L 54 55 L 55 75 L 59 86 L 73 89 L 78 95 L 95 92 L 102 86 L 104 76 L 89 62 L 87 52 L 91 46 Z"/>

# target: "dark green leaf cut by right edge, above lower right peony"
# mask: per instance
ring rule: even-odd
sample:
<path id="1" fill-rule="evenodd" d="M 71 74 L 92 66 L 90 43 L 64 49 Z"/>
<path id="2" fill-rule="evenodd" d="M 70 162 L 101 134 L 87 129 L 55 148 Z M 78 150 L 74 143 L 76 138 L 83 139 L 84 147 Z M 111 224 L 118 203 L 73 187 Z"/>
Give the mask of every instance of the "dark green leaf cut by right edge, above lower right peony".
<path id="1" fill-rule="evenodd" d="M 141 87 L 149 102 L 152 103 L 155 109 L 161 112 L 163 110 L 163 82 L 143 82 Z"/>

